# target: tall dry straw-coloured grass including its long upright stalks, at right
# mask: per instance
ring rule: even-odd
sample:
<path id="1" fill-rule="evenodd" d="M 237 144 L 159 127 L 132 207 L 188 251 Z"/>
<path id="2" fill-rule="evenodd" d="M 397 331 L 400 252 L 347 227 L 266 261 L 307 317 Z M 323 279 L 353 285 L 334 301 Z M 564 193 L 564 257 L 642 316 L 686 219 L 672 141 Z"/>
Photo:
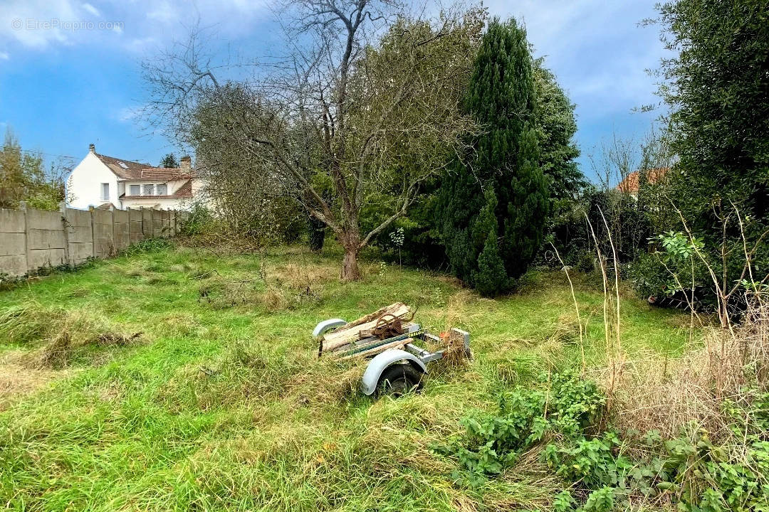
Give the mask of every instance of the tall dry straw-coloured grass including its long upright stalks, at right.
<path id="1" fill-rule="evenodd" d="M 736 208 L 735 211 L 742 229 L 740 213 Z M 601 216 L 605 224 L 603 212 Z M 738 287 L 722 286 L 707 255 L 692 243 L 692 258 L 701 259 L 707 266 L 717 289 L 719 325 L 708 325 L 695 314 L 696 305 L 690 302 L 691 329 L 697 318 L 704 331 L 701 345 L 691 347 L 682 358 L 667 358 L 651 351 L 644 357 L 628 358 L 621 343 L 619 266 L 614 241 L 610 236 L 614 269 L 608 269 L 608 258 L 598 249 L 590 220 L 588 225 L 601 264 L 604 289 L 606 365 L 594 369 L 593 376 L 607 394 L 606 419 L 618 428 L 657 430 L 667 438 L 674 438 L 684 427 L 695 425 L 707 431 L 712 439 L 724 440 L 731 435 L 730 426 L 734 423 L 724 412 L 725 406 L 729 402 L 748 405 L 756 391 L 769 388 L 769 292 L 763 284 L 769 276 L 753 289 L 743 290 L 747 309 L 743 321 L 735 325 L 728 305 Z M 684 229 L 694 242 L 685 222 Z M 749 250 L 744 243 L 743 276 L 749 276 L 755 283 L 751 266 L 754 252 L 755 248 Z M 678 276 L 672 276 L 683 290 Z"/>

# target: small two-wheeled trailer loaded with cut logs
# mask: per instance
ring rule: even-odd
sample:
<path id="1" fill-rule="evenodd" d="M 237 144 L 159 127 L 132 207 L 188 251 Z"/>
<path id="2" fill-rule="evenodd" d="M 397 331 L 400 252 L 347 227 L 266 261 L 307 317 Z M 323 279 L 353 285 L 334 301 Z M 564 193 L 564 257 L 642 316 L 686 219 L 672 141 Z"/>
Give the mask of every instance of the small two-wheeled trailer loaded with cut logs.
<path id="1" fill-rule="evenodd" d="M 352 322 L 319 322 L 312 332 L 318 357 L 368 360 L 361 379 L 365 395 L 400 396 L 419 391 L 431 362 L 449 355 L 470 357 L 470 334 L 450 329 L 435 335 L 412 322 L 414 315 L 404 303 L 396 302 Z M 420 346 L 425 343 L 441 348 L 430 351 Z"/>

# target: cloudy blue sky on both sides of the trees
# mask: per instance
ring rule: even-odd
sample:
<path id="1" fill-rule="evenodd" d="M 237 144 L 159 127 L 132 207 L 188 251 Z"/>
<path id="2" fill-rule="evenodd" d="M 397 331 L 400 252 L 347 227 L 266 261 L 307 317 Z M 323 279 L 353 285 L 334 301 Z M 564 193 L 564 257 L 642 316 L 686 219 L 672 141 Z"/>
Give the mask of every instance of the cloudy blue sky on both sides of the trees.
<path id="1" fill-rule="evenodd" d="M 25 150 L 75 161 L 98 153 L 158 164 L 183 148 L 151 133 L 136 112 L 147 101 L 141 62 L 196 24 L 228 55 L 269 55 L 280 33 L 269 0 L 0 0 L 0 132 Z M 613 134 L 641 139 L 658 112 L 656 68 L 664 49 L 657 0 L 485 0 L 491 16 L 524 21 L 535 55 L 577 105 L 580 164 Z"/>

